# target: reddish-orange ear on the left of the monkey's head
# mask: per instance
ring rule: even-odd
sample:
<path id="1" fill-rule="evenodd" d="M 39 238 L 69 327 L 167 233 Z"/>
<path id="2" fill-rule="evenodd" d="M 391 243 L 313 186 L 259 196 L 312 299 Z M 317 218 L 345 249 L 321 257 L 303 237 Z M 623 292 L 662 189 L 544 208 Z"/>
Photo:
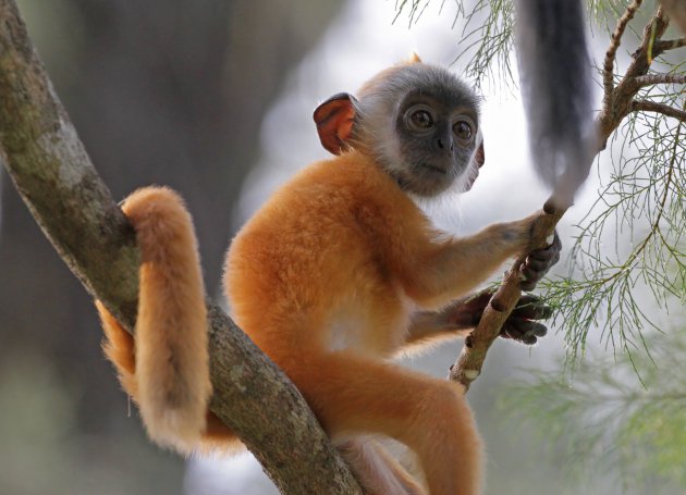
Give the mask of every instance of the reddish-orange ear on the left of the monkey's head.
<path id="1" fill-rule="evenodd" d="M 333 95 L 315 110 L 319 140 L 329 152 L 340 154 L 353 131 L 355 98 L 347 92 Z"/>

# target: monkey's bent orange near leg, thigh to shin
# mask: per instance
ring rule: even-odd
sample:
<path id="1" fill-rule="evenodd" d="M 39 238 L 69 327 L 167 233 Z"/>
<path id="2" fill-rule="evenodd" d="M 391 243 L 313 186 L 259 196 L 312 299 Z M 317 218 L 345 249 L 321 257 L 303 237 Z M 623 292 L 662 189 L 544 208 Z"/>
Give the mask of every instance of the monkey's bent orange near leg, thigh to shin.
<path id="1" fill-rule="evenodd" d="M 380 433 L 419 457 L 431 495 L 475 495 L 481 443 L 455 383 L 350 351 L 310 351 L 285 369 L 335 438 Z"/>

